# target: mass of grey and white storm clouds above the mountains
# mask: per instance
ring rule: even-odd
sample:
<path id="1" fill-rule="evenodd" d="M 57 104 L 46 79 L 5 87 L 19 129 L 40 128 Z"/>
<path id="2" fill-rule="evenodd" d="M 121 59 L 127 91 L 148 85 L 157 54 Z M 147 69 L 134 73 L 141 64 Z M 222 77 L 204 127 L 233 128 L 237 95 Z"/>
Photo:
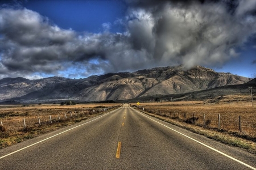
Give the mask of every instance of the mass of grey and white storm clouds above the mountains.
<path id="1" fill-rule="evenodd" d="M 90 74 L 183 64 L 216 66 L 255 35 L 256 1 L 133 1 L 126 28 L 111 33 L 61 29 L 26 8 L 0 9 L 0 78 L 33 73 Z"/>

